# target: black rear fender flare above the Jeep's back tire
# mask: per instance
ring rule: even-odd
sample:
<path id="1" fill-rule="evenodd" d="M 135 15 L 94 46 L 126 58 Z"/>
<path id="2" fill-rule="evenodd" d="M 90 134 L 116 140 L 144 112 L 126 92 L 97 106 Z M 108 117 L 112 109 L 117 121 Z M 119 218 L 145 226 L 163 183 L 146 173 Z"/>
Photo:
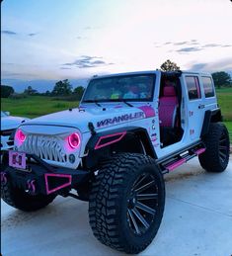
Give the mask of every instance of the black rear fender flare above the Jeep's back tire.
<path id="1" fill-rule="evenodd" d="M 200 132 L 200 137 L 202 138 L 208 132 L 210 123 L 222 122 L 223 118 L 221 115 L 221 110 L 219 108 L 215 110 L 207 110 L 204 113 L 203 125 Z"/>

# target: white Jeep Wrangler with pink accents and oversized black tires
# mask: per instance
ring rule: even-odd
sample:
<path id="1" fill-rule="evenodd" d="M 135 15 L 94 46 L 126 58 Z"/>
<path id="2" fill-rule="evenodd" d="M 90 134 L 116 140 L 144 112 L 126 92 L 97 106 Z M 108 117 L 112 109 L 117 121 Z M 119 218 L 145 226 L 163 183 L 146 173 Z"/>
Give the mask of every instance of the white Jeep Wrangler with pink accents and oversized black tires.
<path id="1" fill-rule="evenodd" d="M 165 173 L 195 156 L 208 172 L 226 169 L 229 136 L 221 121 L 209 74 L 93 77 L 79 108 L 17 129 L 14 150 L 3 156 L 1 197 L 23 211 L 57 195 L 89 201 L 94 235 L 138 253 L 160 226 Z"/>

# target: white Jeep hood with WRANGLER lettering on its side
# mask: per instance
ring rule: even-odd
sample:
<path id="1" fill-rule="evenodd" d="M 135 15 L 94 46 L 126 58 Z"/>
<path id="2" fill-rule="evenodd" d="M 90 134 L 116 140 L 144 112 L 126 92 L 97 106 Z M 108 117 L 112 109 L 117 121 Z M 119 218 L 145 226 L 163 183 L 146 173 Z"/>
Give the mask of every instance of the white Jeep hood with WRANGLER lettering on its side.
<path id="1" fill-rule="evenodd" d="M 145 108 L 145 109 L 144 109 Z M 88 124 L 93 123 L 95 129 L 109 128 L 118 124 L 128 123 L 147 117 L 146 108 L 144 107 L 123 107 L 123 108 L 77 108 L 45 115 L 33 119 L 25 126 L 59 126 L 78 128 L 81 132 L 89 131 Z M 153 110 L 153 109 L 152 109 Z M 154 112 L 154 110 L 153 110 Z M 24 126 L 24 125 L 23 125 Z"/>

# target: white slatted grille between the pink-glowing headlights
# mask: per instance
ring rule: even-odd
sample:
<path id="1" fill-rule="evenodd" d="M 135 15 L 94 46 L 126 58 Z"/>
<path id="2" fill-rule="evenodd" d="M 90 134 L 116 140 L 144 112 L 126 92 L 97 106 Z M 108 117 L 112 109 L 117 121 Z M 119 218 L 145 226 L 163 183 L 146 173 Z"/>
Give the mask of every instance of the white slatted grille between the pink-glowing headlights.
<path id="1" fill-rule="evenodd" d="M 36 154 L 43 160 L 65 163 L 67 155 L 63 143 L 60 137 L 28 134 L 24 143 L 19 147 L 19 151 Z"/>

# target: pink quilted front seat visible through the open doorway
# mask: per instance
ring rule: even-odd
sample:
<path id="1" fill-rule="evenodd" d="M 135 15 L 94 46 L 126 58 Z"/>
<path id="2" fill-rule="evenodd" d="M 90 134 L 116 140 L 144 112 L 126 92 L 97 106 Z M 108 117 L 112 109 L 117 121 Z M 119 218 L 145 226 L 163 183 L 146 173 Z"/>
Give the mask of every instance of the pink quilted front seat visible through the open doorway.
<path id="1" fill-rule="evenodd" d="M 160 126 L 174 128 L 178 107 L 178 98 L 173 86 L 165 86 L 163 96 L 159 100 Z"/>

